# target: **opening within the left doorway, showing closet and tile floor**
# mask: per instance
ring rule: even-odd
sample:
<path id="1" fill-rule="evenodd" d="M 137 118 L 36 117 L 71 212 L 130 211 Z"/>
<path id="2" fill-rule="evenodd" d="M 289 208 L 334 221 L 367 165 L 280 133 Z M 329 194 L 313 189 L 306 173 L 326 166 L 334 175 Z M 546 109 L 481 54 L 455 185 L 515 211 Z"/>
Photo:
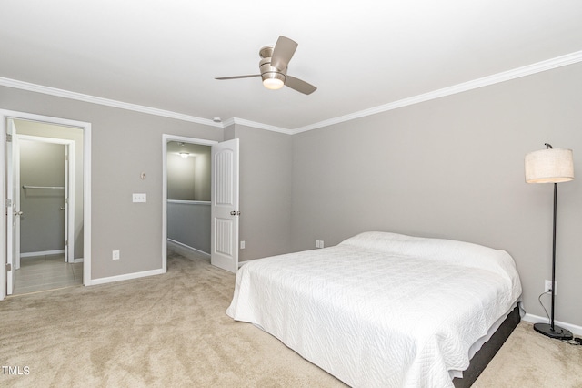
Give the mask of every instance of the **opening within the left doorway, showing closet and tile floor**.
<path id="1" fill-rule="evenodd" d="M 83 284 L 83 259 L 75 260 L 75 189 L 70 189 L 75 188 L 75 141 L 24 135 L 43 133 L 46 125 L 13 121 L 20 248 L 12 293 Z M 66 129 L 56 133 L 65 136 Z"/>

